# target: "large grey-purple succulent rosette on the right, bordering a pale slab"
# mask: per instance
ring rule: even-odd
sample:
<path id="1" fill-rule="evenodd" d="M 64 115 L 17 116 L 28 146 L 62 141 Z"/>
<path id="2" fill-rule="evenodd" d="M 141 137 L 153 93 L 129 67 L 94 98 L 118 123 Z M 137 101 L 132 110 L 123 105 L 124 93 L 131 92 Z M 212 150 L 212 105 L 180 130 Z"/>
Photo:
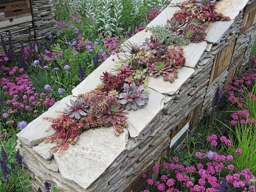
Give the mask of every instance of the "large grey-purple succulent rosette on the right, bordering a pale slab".
<path id="1" fill-rule="evenodd" d="M 119 95 L 119 103 L 126 104 L 126 110 L 137 110 L 142 108 L 148 100 L 148 95 L 146 92 L 142 91 L 144 86 L 140 85 L 139 88 L 136 87 L 136 84 L 133 82 L 130 86 L 127 83 L 123 84 L 124 93 Z"/>

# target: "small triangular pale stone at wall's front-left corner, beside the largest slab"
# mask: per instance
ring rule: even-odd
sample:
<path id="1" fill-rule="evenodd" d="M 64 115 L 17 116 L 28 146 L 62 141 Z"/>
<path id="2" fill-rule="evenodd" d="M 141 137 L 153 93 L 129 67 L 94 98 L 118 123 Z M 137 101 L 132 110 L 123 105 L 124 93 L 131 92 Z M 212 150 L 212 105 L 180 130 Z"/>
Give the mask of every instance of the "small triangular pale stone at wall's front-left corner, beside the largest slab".
<path id="1" fill-rule="evenodd" d="M 42 158 L 49 160 L 53 154 L 50 152 L 56 146 L 55 143 L 42 142 L 37 146 L 33 146 L 33 150 L 38 153 Z"/>

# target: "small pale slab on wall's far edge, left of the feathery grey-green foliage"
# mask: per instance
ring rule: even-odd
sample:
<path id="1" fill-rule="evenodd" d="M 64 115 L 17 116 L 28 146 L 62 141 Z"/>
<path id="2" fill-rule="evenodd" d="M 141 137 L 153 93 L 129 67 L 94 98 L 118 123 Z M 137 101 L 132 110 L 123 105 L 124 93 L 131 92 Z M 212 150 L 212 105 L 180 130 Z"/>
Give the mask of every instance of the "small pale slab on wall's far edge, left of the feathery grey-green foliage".
<path id="1" fill-rule="evenodd" d="M 140 31 L 138 33 L 136 33 L 134 36 L 132 36 L 130 39 L 127 39 L 126 41 L 123 42 L 123 44 L 121 45 L 121 48 L 123 50 L 123 52 L 129 52 L 130 53 L 130 49 L 126 47 L 126 45 L 135 45 L 135 47 L 141 46 L 143 44 L 143 42 L 145 42 L 146 38 L 150 38 L 152 35 L 152 32 L 150 32 L 149 30 L 147 30 L 147 32 L 144 31 Z"/>

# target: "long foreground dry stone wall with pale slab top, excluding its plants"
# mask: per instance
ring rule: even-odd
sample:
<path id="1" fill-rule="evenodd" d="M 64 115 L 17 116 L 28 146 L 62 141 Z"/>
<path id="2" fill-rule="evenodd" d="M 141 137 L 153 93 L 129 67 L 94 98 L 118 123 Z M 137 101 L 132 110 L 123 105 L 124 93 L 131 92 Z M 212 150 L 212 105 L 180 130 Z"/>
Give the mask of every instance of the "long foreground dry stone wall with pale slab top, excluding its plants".
<path id="1" fill-rule="evenodd" d="M 180 1 L 180 0 L 179 0 Z M 173 1 L 177 2 L 177 1 Z M 229 5 L 229 3 L 232 5 Z M 88 130 L 80 135 L 79 145 L 73 145 L 60 156 L 51 154 L 54 144 L 44 139 L 55 132 L 45 130 L 51 122 L 42 117 L 56 117 L 70 99 L 95 89 L 102 72 L 114 67 L 111 56 L 82 81 L 72 95 L 55 103 L 47 112 L 32 121 L 18 136 L 27 174 L 33 187 L 50 181 L 59 191 L 135 191 L 143 187 L 141 175 L 151 173 L 152 166 L 163 164 L 170 141 L 190 121 L 195 124 L 201 106 L 210 103 L 217 87 L 223 88 L 234 71 L 248 61 L 254 42 L 254 23 L 240 34 L 244 9 L 248 0 L 219 1 L 220 12 L 230 16 L 228 22 L 210 24 L 206 41 L 184 47 L 185 66 L 179 69 L 174 83 L 162 78 L 149 78 L 148 103 L 143 109 L 129 111 L 128 127 L 120 136 L 111 128 Z M 230 9 L 225 9 L 228 7 Z M 149 25 L 165 25 L 177 7 L 167 7 Z M 129 39 L 141 45 L 151 32 L 139 32 Z M 123 52 L 127 52 L 122 46 Z M 223 58 L 221 55 L 224 55 Z"/>

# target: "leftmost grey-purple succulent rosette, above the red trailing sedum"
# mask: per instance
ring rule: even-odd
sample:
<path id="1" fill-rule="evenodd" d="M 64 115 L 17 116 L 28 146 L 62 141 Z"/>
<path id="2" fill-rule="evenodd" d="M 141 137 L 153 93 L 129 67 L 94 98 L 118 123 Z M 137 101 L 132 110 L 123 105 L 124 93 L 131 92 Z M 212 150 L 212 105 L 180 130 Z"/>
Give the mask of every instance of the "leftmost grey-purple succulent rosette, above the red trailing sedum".
<path id="1" fill-rule="evenodd" d="M 64 108 L 64 114 L 68 115 L 70 118 L 76 118 L 80 119 L 81 116 L 86 116 L 87 112 L 89 111 L 89 106 L 86 105 L 86 103 L 83 102 L 83 99 L 76 99 L 75 101 L 70 99 L 70 104 L 66 105 L 68 106 L 67 108 Z"/>

